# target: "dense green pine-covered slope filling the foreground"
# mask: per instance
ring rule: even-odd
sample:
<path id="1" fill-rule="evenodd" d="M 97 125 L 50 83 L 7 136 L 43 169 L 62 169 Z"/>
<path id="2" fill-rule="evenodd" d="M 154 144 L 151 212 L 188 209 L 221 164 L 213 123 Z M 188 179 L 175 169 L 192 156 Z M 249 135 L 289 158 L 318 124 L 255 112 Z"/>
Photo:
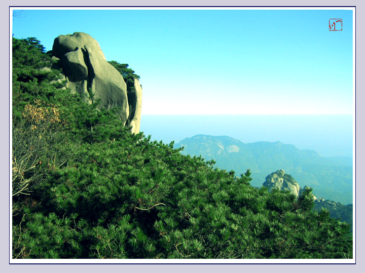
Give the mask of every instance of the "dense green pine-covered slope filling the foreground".
<path id="1" fill-rule="evenodd" d="M 122 126 L 13 38 L 12 258 L 352 258 L 349 225 L 306 189 L 250 185 Z"/>

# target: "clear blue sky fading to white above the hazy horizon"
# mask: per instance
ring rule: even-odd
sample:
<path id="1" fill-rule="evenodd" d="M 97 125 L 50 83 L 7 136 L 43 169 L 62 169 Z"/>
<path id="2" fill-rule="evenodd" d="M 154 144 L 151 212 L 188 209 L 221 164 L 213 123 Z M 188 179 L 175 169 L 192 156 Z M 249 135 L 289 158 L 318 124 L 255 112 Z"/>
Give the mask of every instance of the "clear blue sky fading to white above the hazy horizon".
<path id="1" fill-rule="evenodd" d="M 90 34 L 140 75 L 142 114 L 353 112 L 352 10 L 24 10 L 12 23 L 47 50 Z"/>

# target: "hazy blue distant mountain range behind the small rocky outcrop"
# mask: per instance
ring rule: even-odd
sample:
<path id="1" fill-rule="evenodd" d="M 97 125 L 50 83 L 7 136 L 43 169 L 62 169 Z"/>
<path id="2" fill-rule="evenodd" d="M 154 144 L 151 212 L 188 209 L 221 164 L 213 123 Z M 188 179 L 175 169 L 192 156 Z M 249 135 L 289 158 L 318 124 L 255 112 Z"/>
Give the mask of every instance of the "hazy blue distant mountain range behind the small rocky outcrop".
<path id="1" fill-rule="evenodd" d="M 215 167 L 237 175 L 250 169 L 252 186 L 261 187 L 268 174 L 282 169 L 302 187 L 312 187 L 317 198 L 352 204 L 352 158 L 324 158 L 279 141 L 243 143 L 228 136 L 196 135 L 175 144 L 182 146 L 183 154 L 214 159 Z"/>

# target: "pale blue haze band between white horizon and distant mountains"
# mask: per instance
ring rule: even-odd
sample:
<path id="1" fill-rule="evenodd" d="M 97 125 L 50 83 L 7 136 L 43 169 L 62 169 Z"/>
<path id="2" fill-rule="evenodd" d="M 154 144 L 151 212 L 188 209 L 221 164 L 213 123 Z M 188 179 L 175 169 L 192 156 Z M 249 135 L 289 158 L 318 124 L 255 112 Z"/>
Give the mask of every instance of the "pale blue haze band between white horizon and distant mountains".
<path id="1" fill-rule="evenodd" d="M 352 157 L 352 115 L 142 115 L 140 130 L 165 143 L 226 135 L 243 143 L 281 141 L 323 157 Z"/>

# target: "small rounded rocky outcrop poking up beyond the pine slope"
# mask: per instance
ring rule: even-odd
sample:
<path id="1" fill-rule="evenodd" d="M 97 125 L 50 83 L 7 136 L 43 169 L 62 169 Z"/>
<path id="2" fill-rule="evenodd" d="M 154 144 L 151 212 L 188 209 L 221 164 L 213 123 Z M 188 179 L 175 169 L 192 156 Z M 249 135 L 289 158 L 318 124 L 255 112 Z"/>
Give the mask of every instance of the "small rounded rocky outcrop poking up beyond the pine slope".
<path id="1" fill-rule="evenodd" d="M 300 193 L 299 184 L 291 175 L 285 174 L 284 170 L 278 170 L 268 175 L 263 185 L 269 190 L 272 190 L 273 188 L 289 190 L 296 197 L 298 197 Z"/>

